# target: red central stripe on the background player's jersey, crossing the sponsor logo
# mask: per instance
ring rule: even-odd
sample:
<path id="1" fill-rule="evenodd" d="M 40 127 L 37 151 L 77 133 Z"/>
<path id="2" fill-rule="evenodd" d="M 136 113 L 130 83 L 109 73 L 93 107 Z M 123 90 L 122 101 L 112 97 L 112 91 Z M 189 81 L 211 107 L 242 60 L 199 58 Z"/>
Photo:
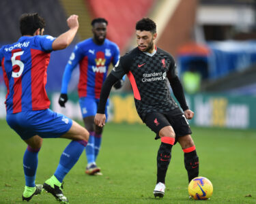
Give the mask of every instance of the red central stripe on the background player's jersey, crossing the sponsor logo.
<path id="1" fill-rule="evenodd" d="M 106 59 L 104 52 L 97 52 L 96 53 L 96 67 L 106 67 Z M 98 65 L 97 65 L 98 64 Z M 95 97 L 96 99 L 100 99 L 100 90 L 102 88 L 104 78 L 104 72 L 100 73 L 100 71 L 96 71 L 95 73 Z"/>

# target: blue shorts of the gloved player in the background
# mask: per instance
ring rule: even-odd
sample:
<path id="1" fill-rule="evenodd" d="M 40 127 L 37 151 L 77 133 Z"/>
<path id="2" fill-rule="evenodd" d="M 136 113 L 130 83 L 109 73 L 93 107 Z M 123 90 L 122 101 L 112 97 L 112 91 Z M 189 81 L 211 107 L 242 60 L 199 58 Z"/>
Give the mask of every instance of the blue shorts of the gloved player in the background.
<path id="1" fill-rule="evenodd" d="M 96 115 L 99 101 L 100 99 L 95 99 L 94 97 L 81 97 L 79 99 L 83 118 Z M 106 107 L 105 107 L 106 120 L 108 119 L 108 112 L 107 112 L 108 106 L 109 106 L 109 99 L 106 101 Z"/>

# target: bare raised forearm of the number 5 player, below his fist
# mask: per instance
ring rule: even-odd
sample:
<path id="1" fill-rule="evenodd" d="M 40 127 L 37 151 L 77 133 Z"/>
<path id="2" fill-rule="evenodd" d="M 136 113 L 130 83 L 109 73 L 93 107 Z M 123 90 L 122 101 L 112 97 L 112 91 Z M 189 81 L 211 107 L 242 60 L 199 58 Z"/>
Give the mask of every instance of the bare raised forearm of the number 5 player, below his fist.
<path id="1" fill-rule="evenodd" d="M 66 33 L 62 33 L 53 41 L 53 50 L 63 50 L 67 48 L 74 39 L 77 30 L 79 27 L 74 27 L 66 31 Z"/>

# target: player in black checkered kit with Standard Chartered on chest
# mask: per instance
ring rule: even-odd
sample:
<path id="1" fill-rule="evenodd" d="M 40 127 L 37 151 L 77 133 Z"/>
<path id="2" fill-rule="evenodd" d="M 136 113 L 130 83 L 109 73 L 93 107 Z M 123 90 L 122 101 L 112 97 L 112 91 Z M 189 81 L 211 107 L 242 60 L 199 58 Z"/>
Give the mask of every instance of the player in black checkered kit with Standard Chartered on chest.
<path id="1" fill-rule="evenodd" d="M 155 197 L 165 194 L 165 176 L 171 160 L 171 148 L 178 142 L 184 152 L 184 164 L 188 171 L 188 182 L 199 174 L 199 158 L 186 119 L 194 113 L 188 109 L 184 91 L 171 54 L 156 48 L 156 24 L 150 18 L 142 18 L 136 24 L 138 47 L 119 59 L 100 92 L 100 102 L 94 122 L 104 126 L 106 100 L 111 87 L 126 74 L 132 85 L 137 112 L 143 122 L 161 140 L 157 153 L 157 181 Z M 171 97 L 168 86 L 180 103 L 183 112 Z"/>

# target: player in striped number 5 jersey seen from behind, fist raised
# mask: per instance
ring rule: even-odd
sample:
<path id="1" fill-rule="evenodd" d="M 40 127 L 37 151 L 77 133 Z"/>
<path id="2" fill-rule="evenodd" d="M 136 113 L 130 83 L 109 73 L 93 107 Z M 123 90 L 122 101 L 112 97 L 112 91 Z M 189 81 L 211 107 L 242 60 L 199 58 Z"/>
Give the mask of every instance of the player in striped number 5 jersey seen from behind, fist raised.
<path id="1" fill-rule="evenodd" d="M 79 29 L 78 16 L 70 16 L 67 24 L 70 29 L 55 38 L 43 35 L 45 22 L 42 17 L 36 13 L 23 14 L 20 17 L 22 37 L 0 50 L 1 67 L 8 90 L 6 120 L 27 143 L 23 156 L 23 201 L 29 201 L 44 188 L 57 201 L 68 203 L 62 192 L 63 178 L 76 164 L 89 139 L 89 132 L 83 126 L 49 109 L 50 101 L 45 90 L 50 54 L 53 50 L 62 50 L 70 45 Z M 43 138 L 57 137 L 72 141 L 61 154 L 54 175 L 43 185 L 35 185 L 38 152 Z"/>

